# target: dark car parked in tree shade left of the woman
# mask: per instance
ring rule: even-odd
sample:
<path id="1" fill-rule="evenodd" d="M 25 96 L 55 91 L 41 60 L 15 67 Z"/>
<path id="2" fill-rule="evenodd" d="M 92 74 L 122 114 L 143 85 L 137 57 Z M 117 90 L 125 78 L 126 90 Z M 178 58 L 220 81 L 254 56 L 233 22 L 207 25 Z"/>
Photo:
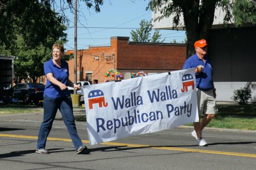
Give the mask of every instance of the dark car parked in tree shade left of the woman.
<path id="1" fill-rule="evenodd" d="M 13 98 L 25 104 L 38 104 L 44 100 L 44 88 L 41 83 L 19 83 L 13 87 Z"/>

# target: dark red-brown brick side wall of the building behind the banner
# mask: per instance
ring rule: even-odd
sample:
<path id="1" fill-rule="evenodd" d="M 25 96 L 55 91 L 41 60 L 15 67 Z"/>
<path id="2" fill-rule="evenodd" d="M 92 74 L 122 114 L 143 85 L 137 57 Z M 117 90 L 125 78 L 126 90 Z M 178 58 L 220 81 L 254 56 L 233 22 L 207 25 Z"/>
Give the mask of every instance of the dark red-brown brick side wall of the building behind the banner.
<path id="1" fill-rule="evenodd" d="M 183 44 L 127 41 L 119 41 L 117 44 L 119 70 L 166 72 L 182 69 L 186 60 L 186 45 Z"/>

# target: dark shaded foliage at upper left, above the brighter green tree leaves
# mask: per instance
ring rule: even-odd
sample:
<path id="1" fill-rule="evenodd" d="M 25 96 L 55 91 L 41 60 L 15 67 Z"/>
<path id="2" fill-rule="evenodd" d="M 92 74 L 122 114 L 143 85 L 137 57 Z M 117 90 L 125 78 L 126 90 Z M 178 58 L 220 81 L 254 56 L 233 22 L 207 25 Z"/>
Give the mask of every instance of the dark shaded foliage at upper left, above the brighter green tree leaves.
<path id="1" fill-rule="evenodd" d="M 22 36 L 29 47 L 47 44 L 63 38 L 65 18 L 51 9 L 50 1 L 4 0 L 0 11 L 0 42 L 12 46 Z"/>

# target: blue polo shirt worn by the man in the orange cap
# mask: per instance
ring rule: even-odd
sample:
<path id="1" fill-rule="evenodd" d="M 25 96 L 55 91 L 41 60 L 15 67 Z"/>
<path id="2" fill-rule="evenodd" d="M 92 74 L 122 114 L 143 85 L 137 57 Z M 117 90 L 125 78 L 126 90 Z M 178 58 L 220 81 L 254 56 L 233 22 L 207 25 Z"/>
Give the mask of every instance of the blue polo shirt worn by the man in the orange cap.
<path id="1" fill-rule="evenodd" d="M 212 66 L 209 60 L 205 58 L 205 63 L 201 60 L 197 54 L 192 55 L 185 61 L 183 69 L 195 68 L 199 65 L 203 65 L 203 71 L 196 73 L 196 85 L 200 90 L 211 90 L 212 89 Z"/>

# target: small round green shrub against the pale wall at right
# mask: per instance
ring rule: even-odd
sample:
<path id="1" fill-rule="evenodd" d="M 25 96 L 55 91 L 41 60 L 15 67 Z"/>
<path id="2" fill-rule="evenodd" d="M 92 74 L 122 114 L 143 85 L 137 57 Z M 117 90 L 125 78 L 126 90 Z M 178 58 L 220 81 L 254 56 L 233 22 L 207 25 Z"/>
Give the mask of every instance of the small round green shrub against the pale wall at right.
<path id="1" fill-rule="evenodd" d="M 234 95 L 231 98 L 233 101 L 238 102 L 240 105 L 246 105 L 248 100 L 252 98 L 252 91 L 250 87 L 240 88 L 238 90 L 234 90 Z"/>

